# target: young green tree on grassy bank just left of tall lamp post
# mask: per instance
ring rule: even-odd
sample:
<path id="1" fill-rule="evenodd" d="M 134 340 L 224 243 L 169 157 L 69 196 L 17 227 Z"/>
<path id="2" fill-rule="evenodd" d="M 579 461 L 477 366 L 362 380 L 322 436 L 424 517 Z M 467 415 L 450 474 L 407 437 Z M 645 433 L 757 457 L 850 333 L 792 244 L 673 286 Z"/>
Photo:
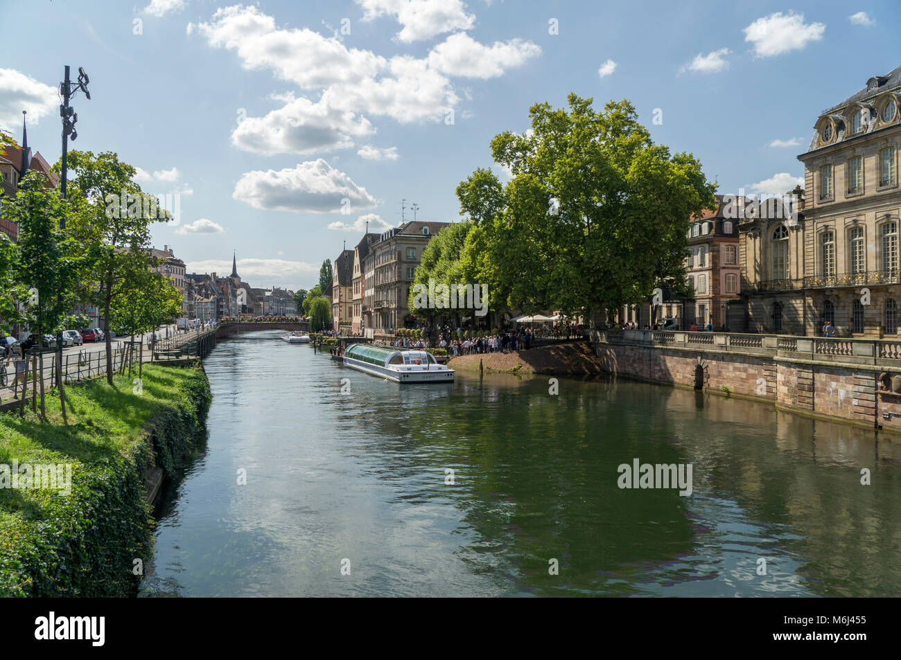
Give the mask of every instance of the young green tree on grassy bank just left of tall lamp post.
<path id="1" fill-rule="evenodd" d="M 35 331 L 40 348 L 45 333 L 63 330 L 71 319 L 70 312 L 82 291 L 84 250 L 70 234 L 59 229 L 60 220 L 67 215 L 67 203 L 58 190 L 47 187 L 45 176 L 37 172 L 27 174 L 18 194 L 5 206 L 7 217 L 19 226 L 14 281 L 27 292 L 18 316 Z M 41 415 L 45 415 L 42 351 L 40 361 Z M 61 364 L 57 368 L 57 384 L 65 420 Z"/>

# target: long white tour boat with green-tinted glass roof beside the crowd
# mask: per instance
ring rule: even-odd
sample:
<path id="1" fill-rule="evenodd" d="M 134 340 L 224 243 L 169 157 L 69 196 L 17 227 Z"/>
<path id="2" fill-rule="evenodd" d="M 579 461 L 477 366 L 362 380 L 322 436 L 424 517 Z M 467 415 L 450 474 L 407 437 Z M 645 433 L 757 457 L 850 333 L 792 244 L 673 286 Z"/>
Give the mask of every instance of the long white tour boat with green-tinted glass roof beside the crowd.
<path id="1" fill-rule="evenodd" d="M 427 350 L 351 344 L 344 350 L 343 362 L 352 369 L 396 383 L 453 382 L 453 369 L 439 365 Z"/>

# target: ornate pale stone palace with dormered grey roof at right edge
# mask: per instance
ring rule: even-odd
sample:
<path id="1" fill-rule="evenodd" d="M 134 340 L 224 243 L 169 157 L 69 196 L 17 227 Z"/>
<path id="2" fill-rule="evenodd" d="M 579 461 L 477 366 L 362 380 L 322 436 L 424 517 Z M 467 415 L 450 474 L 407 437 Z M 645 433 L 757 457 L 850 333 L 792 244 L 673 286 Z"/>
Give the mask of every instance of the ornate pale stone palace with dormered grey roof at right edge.
<path id="1" fill-rule="evenodd" d="M 748 330 L 896 337 L 901 67 L 820 114 L 798 159 L 803 208 L 740 221 Z"/>

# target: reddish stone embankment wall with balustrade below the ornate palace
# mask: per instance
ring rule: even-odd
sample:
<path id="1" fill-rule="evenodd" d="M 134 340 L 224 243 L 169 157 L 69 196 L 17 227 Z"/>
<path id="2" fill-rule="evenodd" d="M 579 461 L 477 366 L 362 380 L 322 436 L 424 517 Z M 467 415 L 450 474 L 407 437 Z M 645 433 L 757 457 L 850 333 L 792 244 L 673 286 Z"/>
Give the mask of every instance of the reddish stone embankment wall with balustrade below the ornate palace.
<path id="1" fill-rule="evenodd" d="M 901 342 L 714 332 L 600 330 L 605 372 L 701 387 L 778 408 L 901 431 L 901 393 L 879 375 L 901 375 Z"/>

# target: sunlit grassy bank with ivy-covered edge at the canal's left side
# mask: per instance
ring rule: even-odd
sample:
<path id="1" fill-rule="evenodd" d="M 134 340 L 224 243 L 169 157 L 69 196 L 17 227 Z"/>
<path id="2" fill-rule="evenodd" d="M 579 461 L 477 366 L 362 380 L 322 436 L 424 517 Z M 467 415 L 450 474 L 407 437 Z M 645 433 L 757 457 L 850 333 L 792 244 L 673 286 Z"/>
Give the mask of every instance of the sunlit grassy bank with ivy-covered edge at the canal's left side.
<path id="1" fill-rule="evenodd" d="M 140 391 L 127 375 L 68 386 L 68 425 L 55 391 L 46 421 L 0 414 L 0 466 L 71 466 L 68 494 L 0 487 L 0 596 L 133 595 L 152 539 L 145 471 L 185 464 L 210 399 L 202 369 L 144 366 Z"/>

